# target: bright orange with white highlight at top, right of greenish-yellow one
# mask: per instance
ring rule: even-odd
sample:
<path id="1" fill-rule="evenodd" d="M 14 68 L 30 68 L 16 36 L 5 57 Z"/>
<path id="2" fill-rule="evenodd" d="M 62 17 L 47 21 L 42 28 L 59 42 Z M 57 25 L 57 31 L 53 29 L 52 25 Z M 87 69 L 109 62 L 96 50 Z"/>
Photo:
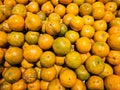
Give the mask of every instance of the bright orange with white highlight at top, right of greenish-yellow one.
<path id="1" fill-rule="evenodd" d="M 26 5 L 26 9 L 28 12 L 32 12 L 32 13 L 37 13 L 40 8 L 39 8 L 39 4 L 35 1 L 31 1 Z"/>

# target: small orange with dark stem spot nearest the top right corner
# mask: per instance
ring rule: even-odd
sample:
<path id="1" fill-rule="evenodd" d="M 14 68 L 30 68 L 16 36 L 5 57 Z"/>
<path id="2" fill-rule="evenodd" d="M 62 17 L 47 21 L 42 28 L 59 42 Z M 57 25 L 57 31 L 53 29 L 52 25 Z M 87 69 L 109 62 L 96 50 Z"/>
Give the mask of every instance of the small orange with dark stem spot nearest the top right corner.
<path id="1" fill-rule="evenodd" d="M 117 3 L 116 2 L 107 2 L 105 4 L 105 10 L 111 11 L 112 13 L 117 10 Z"/>

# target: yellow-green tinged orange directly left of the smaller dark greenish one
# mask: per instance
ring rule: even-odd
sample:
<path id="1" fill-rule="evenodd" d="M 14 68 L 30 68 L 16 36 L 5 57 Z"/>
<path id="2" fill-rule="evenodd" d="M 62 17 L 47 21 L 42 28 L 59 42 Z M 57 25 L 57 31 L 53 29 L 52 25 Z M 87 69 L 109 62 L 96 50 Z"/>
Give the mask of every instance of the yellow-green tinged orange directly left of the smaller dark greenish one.
<path id="1" fill-rule="evenodd" d="M 24 34 L 22 32 L 11 32 L 7 37 L 8 43 L 12 46 L 22 46 L 24 44 Z"/>

